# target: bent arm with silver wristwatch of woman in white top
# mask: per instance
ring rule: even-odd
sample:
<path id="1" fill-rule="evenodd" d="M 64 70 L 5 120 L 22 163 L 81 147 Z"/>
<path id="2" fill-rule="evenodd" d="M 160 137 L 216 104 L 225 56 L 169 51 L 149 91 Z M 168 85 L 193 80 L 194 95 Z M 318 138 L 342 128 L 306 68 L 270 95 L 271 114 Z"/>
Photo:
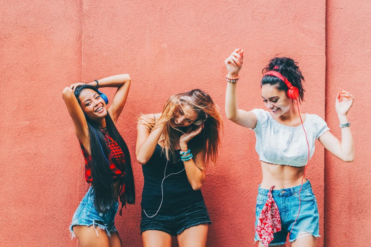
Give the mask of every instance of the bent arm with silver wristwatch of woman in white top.
<path id="1" fill-rule="evenodd" d="M 340 98 L 342 97 L 342 101 Z M 335 109 L 338 113 L 340 124 L 348 123 L 348 111 L 353 104 L 352 94 L 340 90 L 336 96 Z M 319 142 L 334 156 L 345 162 L 354 160 L 354 143 L 350 127 L 341 128 L 341 141 L 338 140 L 330 131 L 326 131 L 318 138 Z"/>

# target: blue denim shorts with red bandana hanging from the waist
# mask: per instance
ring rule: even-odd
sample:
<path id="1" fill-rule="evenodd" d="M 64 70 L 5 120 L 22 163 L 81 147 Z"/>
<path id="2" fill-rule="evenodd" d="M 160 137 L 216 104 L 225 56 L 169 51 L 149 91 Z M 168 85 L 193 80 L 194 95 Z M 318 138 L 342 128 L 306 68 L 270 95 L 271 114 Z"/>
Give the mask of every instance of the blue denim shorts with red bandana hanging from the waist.
<path id="1" fill-rule="evenodd" d="M 279 209 L 281 217 L 282 230 L 273 234 L 273 241 L 270 242 L 269 246 L 282 245 L 286 242 L 287 234 L 291 231 L 292 225 L 298 216 L 299 210 L 299 190 L 301 185 L 292 188 L 286 188 L 281 190 L 273 190 L 273 199 Z M 269 190 L 258 188 L 258 195 L 256 198 L 256 213 L 255 213 L 255 228 L 257 225 L 257 219 L 259 218 L 262 208 L 267 201 L 267 193 Z M 319 214 L 317 208 L 317 200 L 313 194 L 311 183 L 309 180 L 303 184 L 303 188 L 300 192 L 301 206 L 298 220 L 296 221 L 292 233 L 290 234 L 289 241 L 293 242 L 298 237 L 314 236 L 321 237 L 319 235 Z M 255 241 L 261 241 L 255 233 Z"/>

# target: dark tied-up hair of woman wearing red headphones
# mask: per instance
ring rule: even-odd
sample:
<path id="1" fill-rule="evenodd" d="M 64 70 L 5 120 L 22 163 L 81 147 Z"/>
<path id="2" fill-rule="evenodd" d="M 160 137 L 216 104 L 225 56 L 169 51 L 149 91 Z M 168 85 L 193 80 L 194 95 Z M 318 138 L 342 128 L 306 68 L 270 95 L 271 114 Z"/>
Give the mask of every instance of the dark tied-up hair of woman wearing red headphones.
<path id="1" fill-rule="evenodd" d="M 304 88 L 302 81 L 304 81 L 304 77 L 299 69 L 299 66 L 297 66 L 297 62 L 294 60 L 288 58 L 288 57 L 275 57 L 269 61 L 269 64 L 262 70 L 262 73 L 265 74 L 268 71 L 277 71 L 282 76 L 286 77 L 292 86 L 295 86 L 299 89 L 299 102 L 304 101 Z M 278 79 L 278 77 L 266 75 L 263 76 L 262 82 L 260 86 L 263 86 L 264 84 L 270 84 L 270 85 L 276 85 L 278 84 L 277 89 L 283 90 L 287 93 L 288 87 L 286 84 Z"/>

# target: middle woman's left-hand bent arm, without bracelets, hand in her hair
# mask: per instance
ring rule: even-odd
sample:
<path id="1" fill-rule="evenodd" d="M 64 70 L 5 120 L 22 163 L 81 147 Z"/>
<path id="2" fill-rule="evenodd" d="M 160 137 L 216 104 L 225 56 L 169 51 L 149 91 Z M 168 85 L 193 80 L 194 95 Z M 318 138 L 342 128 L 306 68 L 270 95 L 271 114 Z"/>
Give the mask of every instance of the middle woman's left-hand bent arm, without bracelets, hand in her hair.
<path id="1" fill-rule="evenodd" d="M 137 145 L 135 147 L 135 154 L 139 164 L 146 164 L 152 157 L 155 151 L 158 140 L 160 140 L 162 131 L 164 130 L 165 123 L 161 123 L 154 130 L 150 130 L 147 126 L 149 121 L 159 119 L 160 114 L 147 114 L 139 117 L 137 125 Z"/>

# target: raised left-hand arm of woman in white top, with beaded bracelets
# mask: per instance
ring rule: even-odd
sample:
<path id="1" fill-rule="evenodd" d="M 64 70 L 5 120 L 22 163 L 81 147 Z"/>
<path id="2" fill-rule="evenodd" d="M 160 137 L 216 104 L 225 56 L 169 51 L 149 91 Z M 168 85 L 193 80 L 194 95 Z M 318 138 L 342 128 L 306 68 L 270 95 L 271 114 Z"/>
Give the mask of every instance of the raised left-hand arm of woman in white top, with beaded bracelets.
<path id="1" fill-rule="evenodd" d="M 224 63 L 228 70 L 228 77 L 235 78 L 239 76 L 243 64 L 243 50 L 234 50 Z M 226 115 L 229 120 L 243 127 L 255 128 L 257 124 L 254 113 L 238 109 L 237 82 L 227 82 Z"/>

